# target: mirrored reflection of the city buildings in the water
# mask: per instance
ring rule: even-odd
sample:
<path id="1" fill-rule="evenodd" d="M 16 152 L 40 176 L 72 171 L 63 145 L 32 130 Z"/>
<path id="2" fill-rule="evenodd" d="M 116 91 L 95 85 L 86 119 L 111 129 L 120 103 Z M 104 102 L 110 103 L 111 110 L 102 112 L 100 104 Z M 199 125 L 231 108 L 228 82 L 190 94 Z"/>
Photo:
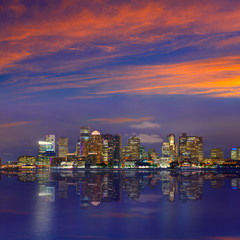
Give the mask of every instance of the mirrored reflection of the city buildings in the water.
<path id="1" fill-rule="evenodd" d="M 138 200 L 145 188 L 159 188 L 163 200 L 174 202 L 202 200 L 204 182 L 213 189 L 223 188 L 231 179 L 232 189 L 240 189 L 240 173 L 214 171 L 66 171 L 15 172 L 2 174 L 16 176 L 21 182 L 37 182 L 38 196 L 47 202 L 67 200 L 69 187 L 75 189 L 81 208 L 98 206 L 105 202 L 119 202 L 122 194 Z"/>

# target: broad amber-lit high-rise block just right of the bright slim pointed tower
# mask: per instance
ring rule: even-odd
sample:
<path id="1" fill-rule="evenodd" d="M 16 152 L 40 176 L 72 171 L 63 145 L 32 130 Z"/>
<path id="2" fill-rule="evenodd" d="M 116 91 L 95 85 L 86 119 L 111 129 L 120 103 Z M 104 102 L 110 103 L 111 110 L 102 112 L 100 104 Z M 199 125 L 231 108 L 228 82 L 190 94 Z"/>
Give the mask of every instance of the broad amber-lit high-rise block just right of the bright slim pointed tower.
<path id="1" fill-rule="evenodd" d="M 193 162 L 203 160 L 203 138 L 198 136 L 187 136 L 183 133 L 179 137 L 179 155 Z"/>

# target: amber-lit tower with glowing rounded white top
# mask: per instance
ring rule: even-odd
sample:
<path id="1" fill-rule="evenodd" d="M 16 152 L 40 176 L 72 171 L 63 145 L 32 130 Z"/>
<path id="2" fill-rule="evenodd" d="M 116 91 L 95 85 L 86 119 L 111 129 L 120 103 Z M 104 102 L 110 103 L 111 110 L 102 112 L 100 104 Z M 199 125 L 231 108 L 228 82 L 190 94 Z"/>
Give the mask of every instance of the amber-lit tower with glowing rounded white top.
<path id="1" fill-rule="evenodd" d="M 98 131 L 93 131 L 91 134 L 89 155 L 91 155 L 89 156 L 91 159 L 91 165 L 101 163 L 102 138 Z"/>

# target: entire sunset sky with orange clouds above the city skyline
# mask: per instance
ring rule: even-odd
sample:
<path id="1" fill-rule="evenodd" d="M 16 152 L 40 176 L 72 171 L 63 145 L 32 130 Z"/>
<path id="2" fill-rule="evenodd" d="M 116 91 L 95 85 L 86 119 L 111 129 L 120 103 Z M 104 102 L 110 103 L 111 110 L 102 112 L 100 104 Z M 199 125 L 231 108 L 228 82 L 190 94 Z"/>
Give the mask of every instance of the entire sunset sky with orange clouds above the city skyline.
<path id="1" fill-rule="evenodd" d="M 240 146 L 240 1 L 0 0 L 0 157 L 80 126 Z"/>

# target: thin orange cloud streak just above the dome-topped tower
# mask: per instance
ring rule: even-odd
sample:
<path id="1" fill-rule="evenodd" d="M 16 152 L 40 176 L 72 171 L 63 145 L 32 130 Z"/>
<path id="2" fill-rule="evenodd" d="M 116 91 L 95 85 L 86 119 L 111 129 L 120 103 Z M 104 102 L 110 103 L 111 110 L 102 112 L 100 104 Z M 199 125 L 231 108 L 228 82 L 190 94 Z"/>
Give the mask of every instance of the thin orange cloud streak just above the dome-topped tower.
<path id="1" fill-rule="evenodd" d="M 90 121 L 99 122 L 101 124 L 117 124 L 117 123 L 132 123 L 132 122 L 143 122 L 153 120 L 153 117 L 142 117 L 142 118 L 95 118 Z"/>

